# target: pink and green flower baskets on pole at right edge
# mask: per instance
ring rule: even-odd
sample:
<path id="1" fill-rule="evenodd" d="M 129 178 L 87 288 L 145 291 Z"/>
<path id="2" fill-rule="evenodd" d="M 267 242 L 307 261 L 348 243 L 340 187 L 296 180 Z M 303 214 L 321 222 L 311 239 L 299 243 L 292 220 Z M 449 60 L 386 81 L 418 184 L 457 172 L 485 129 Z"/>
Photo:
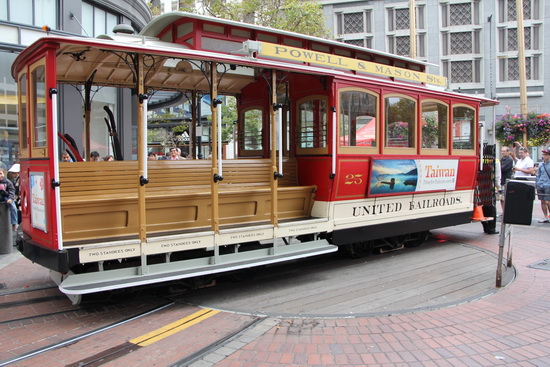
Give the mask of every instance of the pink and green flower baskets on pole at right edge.
<path id="1" fill-rule="evenodd" d="M 503 115 L 495 122 L 496 139 L 502 145 L 523 141 L 527 132 L 527 144 L 544 146 L 550 141 L 550 114 Z"/>

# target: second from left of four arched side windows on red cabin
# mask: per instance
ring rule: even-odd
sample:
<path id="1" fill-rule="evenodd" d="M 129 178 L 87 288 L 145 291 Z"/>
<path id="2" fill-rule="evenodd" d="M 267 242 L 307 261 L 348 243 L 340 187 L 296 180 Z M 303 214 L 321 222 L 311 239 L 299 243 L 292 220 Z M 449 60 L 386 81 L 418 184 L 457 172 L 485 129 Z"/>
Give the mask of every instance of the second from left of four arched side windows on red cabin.
<path id="1" fill-rule="evenodd" d="M 414 148 L 416 102 L 405 97 L 386 97 L 386 147 Z"/>

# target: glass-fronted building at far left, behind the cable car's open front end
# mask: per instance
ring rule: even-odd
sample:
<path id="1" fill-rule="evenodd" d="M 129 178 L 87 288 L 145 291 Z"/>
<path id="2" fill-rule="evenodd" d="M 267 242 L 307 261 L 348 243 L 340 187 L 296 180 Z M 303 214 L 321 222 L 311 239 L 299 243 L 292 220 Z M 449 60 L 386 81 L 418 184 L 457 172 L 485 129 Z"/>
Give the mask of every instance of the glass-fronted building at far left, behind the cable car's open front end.
<path id="1" fill-rule="evenodd" d="M 36 39 L 51 35 L 95 37 L 111 34 L 113 27 L 124 23 L 139 32 L 150 20 L 151 11 L 145 0 L 4 0 L 0 1 L 0 161 L 9 168 L 18 161 L 17 85 L 11 75 L 11 64 L 18 53 Z M 42 30 L 43 26 L 49 31 Z M 96 91 L 96 108 L 101 104 L 124 110 L 127 96 L 109 90 Z M 61 116 L 82 119 L 81 91 L 60 88 Z M 63 121 L 60 121 L 63 130 Z M 77 129 L 78 130 L 78 129 Z M 80 131 L 64 131 L 79 136 Z M 108 140 L 98 133 L 98 144 Z"/>

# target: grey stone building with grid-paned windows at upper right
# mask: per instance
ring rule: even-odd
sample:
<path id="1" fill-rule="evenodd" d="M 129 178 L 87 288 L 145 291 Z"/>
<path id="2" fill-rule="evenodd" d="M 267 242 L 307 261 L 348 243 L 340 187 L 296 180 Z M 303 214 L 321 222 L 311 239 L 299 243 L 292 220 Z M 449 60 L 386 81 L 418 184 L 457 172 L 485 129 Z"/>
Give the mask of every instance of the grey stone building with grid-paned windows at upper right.
<path id="1" fill-rule="evenodd" d="M 410 55 L 410 1 L 320 2 L 335 39 Z M 417 59 L 434 64 L 430 72 L 446 76 L 451 90 L 500 101 L 480 116 L 493 143 L 495 118 L 520 113 L 516 0 L 416 0 L 415 6 Z M 523 0 L 523 7 L 528 110 L 549 113 L 550 6 Z"/>

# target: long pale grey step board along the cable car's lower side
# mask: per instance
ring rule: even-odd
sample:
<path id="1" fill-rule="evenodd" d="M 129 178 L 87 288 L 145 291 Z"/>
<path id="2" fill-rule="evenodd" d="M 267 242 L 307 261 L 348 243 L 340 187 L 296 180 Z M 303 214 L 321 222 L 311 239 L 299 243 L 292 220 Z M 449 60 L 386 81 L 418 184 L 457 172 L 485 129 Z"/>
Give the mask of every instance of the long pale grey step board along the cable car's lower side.
<path id="1" fill-rule="evenodd" d="M 200 275 L 251 268 L 288 260 L 327 254 L 338 250 L 326 240 L 302 242 L 286 246 L 239 253 L 183 260 L 163 264 L 106 270 L 94 273 L 69 274 L 59 285 L 67 295 L 81 295 L 166 282 Z"/>

